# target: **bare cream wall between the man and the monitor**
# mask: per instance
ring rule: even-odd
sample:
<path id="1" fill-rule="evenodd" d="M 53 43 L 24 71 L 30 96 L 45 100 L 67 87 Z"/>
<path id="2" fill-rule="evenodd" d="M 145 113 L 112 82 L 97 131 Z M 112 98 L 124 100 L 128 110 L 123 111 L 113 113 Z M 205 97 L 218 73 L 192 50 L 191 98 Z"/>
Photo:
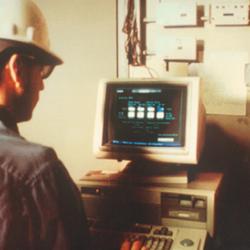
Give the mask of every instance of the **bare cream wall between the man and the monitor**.
<path id="1" fill-rule="evenodd" d="M 36 0 L 51 44 L 64 64 L 45 82 L 33 119 L 20 124 L 29 140 L 55 148 L 73 178 L 106 161 L 92 154 L 96 90 L 116 76 L 115 0 Z"/>

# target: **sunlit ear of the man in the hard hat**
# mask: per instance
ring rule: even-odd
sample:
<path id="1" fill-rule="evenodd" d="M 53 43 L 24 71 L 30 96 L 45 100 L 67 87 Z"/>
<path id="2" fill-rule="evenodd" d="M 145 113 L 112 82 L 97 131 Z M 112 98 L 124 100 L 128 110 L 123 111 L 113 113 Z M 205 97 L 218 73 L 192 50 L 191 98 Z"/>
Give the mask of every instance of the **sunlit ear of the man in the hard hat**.
<path id="1" fill-rule="evenodd" d="M 18 54 L 13 54 L 8 63 L 7 67 L 9 70 L 9 77 L 11 81 L 13 82 L 13 88 L 16 91 L 18 95 L 21 95 L 24 91 L 24 86 L 23 86 L 23 77 L 22 77 L 22 60 L 21 56 Z"/>

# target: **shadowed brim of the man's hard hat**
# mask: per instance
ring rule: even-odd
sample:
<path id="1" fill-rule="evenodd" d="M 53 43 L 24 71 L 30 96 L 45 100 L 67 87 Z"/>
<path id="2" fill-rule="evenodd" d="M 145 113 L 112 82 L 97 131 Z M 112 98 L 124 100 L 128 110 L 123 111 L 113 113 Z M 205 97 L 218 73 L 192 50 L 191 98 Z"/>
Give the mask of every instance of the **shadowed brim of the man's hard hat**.
<path id="1" fill-rule="evenodd" d="M 0 55 L 6 50 L 9 50 L 13 53 L 20 52 L 36 56 L 41 61 L 41 63 L 45 65 L 56 66 L 63 63 L 62 59 L 53 52 L 47 51 L 33 43 L 0 38 Z"/>

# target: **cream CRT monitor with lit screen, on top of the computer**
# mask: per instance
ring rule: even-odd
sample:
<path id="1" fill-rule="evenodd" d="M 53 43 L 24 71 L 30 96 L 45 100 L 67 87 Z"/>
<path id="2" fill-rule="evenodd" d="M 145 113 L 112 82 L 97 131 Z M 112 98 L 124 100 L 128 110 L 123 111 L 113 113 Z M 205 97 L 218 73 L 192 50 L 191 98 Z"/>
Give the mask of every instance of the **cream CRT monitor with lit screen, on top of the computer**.
<path id="1" fill-rule="evenodd" d="M 100 83 L 94 136 L 97 158 L 196 164 L 204 127 L 198 77 Z"/>

